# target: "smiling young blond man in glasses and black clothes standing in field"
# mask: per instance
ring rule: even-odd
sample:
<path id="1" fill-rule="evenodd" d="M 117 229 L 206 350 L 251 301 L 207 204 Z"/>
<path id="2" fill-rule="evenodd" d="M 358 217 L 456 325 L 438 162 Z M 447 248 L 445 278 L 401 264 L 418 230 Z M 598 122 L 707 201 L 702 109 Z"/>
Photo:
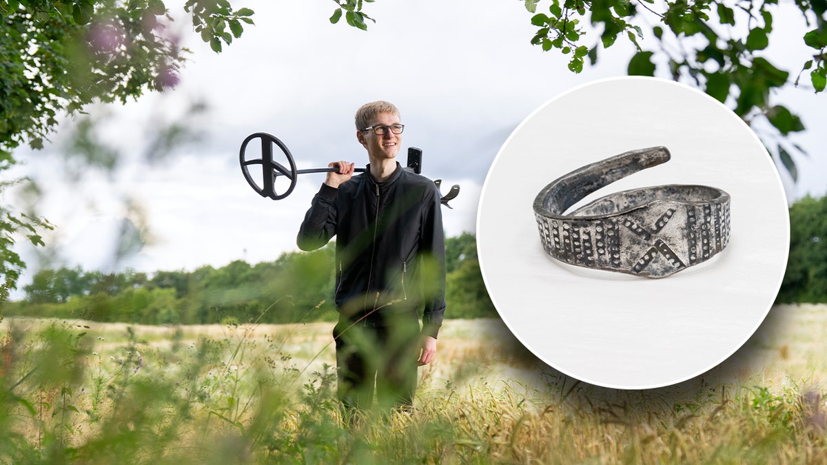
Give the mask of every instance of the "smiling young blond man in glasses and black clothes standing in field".
<path id="1" fill-rule="evenodd" d="M 338 395 L 346 413 L 408 409 L 417 366 L 437 352 L 445 313 L 445 238 L 433 181 L 396 161 L 404 125 L 393 104 L 356 112 L 356 140 L 370 161 L 364 174 L 334 161 L 304 217 L 297 243 L 323 247 L 336 236 Z M 418 312 L 423 308 L 420 329 Z"/>

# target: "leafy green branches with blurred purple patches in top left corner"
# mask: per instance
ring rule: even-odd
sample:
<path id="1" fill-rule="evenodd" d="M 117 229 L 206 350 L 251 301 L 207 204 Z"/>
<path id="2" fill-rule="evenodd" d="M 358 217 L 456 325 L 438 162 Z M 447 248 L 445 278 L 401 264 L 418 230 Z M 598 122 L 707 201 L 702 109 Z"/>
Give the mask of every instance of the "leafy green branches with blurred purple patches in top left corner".
<path id="1" fill-rule="evenodd" d="M 217 52 L 252 24 L 250 8 L 227 0 L 189 0 L 184 10 Z M 178 84 L 185 49 L 171 21 L 161 0 L 0 2 L 0 161 L 23 143 L 42 148 L 64 112 Z"/>

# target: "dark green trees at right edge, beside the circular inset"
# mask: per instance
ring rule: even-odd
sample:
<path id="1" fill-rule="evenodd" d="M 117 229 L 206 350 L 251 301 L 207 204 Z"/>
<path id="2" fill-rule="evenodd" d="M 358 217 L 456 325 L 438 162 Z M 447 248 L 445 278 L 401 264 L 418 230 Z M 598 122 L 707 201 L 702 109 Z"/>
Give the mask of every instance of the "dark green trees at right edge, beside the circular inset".
<path id="1" fill-rule="evenodd" d="M 827 303 L 827 195 L 790 207 L 790 256 L 777 302 Z"/>

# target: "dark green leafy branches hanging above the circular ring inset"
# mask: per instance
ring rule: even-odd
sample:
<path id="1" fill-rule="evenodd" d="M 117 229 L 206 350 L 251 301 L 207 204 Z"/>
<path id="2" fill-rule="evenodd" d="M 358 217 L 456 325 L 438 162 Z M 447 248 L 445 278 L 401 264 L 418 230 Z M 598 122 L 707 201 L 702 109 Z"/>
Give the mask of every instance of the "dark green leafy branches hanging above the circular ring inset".
<path id="1" fill-rule="evenodd" d="M 538 12 L 538 0 L 524 0 L 531 19 L 538 26 L 532 43 L 543 50 L 558 49 L 571 55 L 569 69 L 579 73 L 586 57 L 594 65 L 598 54 L 625 36 L 637 52 L 629 60 L 628 74 L 653 76 L 658 63 L 666 62 L 673 79 L 688 79 L 713 98 L 729 103 L 745 121 L 762 115 L 783 138 L 805 129 L 801 117 L 788 108 L 773 104 L 771 93 L 790 82 L 791 73 L 772 64 L 767 49 L 773 31 L 777 0 L 552 0 L 547 13 Z M 807 24 L 803 40 L 812 59 L 801 64 L 802 74 L 816 93 L 825 89 L 827 26 L 824 0 L 796 0 Z M 583 25 L 588 26 L 584 27 Z M 646 30 L 644 32 L 644 29 Z M 644 48 L 643 39 L 647 41 Z M 766 137 L 763 137 L 767 144 Z M 778 141 L 777 155 L 796 179 L 795 163 L 789 151 L 801 147 Z"/>

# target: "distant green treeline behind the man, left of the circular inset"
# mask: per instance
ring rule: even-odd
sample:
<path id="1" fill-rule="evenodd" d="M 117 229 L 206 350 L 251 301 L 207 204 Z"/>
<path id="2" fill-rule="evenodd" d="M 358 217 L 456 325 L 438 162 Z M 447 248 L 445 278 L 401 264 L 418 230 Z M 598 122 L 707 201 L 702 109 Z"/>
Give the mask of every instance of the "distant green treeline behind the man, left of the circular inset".
<path id="1" fill-rule="evenodd" d="M 450 237 L 447 248 L 447 315 L 496 315 L 480 274 L 476 238 Z M 84 318 L 140 324 L 295 323 L 334 320 L 333 244 L 288 252 L 250 265 L 202 266 L 195 271 L 102 273 L 80 267 L 44 269 L 23 287 L 26 299 L 5 314 Z"/>

